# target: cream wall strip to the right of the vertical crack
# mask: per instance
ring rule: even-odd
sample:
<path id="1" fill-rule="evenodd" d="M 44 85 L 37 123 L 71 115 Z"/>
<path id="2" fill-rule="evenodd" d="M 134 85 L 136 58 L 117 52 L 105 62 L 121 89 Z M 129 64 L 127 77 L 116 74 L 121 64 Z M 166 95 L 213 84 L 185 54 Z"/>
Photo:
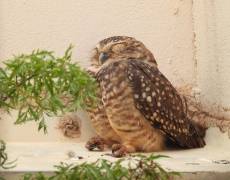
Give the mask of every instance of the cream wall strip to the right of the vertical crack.
<path id="1" fill-rule="evenodd" d="M 194 0 L 194 45 L 200 100 L 230 117 L 230 1 Z"/>

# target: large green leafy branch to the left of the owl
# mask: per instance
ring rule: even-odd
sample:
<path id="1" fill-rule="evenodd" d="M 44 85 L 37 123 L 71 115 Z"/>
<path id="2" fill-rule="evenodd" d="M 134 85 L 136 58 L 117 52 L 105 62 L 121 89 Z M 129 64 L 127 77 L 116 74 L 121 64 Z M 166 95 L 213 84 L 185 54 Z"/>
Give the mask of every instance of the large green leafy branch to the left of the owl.
<path id="1" fill-rule="evenodd" d="M 86 108 L 96 101 L 96 83 L 76 63 L 70 46 L 63 57 L 36 50 L 14 56 L 0 68 L 0 108 L 18 110 L 15 124 L 36 121 L 47 131 L 45 116 Z"/>

